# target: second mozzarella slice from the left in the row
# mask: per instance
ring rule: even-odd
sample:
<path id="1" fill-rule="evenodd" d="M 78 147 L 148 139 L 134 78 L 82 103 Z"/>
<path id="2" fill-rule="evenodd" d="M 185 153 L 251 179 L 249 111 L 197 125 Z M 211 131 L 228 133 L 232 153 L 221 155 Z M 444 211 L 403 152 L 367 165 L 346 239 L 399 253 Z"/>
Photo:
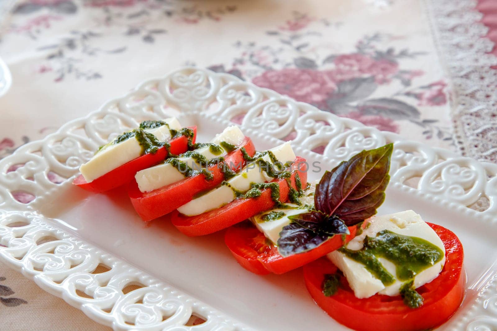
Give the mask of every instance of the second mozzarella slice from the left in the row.
<path id="1" fill-rule="evenodd" d="M 244 133 L 237 126 L 232 126 L 224 129 L 223 132 L 216 135 L 211 140 L 212 143 L 219 145 L 221 141 L 226 141 L 232 145 L 239 145 L 244 140 Z M 207 160 L 224 156 L 228 152 L 221 147 L 221 153 L 213 153 L 209 146 L 200 147 L 195 149 L 195 152 L 203 155 Z M 178 157 L 179 161 L 186 163 L 186 165 L 193 169 L 201 169 L 194 158 L 192 157 Z M 205 165 L 203 165 L 205 167 Z M 135 179 L 138 183 L 138 188 L 141 192 L 150 192 L 162 188 L 166 185 L 176 183 L 184 178 L 184 173 L 180 172 L 175 166 L 170 163 L 158 164 L 156 166 L 143 169 L 136 173 Z"/>

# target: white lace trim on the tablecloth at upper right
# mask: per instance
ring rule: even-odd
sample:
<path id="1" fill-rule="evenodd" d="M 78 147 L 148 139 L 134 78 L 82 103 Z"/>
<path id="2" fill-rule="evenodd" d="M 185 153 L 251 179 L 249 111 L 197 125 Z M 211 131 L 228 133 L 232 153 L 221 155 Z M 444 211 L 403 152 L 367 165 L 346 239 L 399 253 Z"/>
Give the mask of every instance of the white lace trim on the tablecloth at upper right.
<path id="1" fill-rule="evenodd" d="M 452 80 L 455 142 L 464 156 L 497 162 L 497 57 L 474 0 L 427 1 L 443 66 Z"/>

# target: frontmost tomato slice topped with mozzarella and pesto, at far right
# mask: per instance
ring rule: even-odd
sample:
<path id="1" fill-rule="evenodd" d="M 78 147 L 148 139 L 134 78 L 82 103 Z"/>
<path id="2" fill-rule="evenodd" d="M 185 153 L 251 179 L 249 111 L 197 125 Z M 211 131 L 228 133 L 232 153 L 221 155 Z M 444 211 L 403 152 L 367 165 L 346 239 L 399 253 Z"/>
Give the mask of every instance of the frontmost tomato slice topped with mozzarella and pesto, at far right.
<path id="1" fill-rule="evenodd" d="M 307 289 L 354 330 L 431 330 L 461 306 L 461 242 L 412 210 L 373 216 L 347 245 L 304 266 Z"/>

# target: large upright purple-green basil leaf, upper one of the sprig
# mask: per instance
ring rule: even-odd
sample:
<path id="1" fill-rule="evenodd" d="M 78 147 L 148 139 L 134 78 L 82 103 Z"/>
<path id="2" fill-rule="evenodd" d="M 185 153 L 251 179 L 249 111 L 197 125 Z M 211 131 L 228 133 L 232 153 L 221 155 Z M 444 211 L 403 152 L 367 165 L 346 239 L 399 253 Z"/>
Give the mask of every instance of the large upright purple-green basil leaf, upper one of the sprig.
<path id="1" fill-rule="evenodd" d="M 316 208 L 340 217 L 346 225 L 376 214 L 390 181 L 392 150 L 392 143 L 363 150 L 325 172 L 314 194 Z"/>

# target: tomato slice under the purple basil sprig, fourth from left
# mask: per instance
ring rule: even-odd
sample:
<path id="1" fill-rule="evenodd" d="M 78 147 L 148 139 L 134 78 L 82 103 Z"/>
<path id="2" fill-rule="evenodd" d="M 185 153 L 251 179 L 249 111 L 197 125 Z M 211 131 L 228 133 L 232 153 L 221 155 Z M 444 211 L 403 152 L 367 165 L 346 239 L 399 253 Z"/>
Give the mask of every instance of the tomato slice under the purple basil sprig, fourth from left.
<path id="1" fill-rule="evenodd" d="M 363 228 L 366 223 L 362 223 Z M 248 271 L 260 275 L 270 272 L 281 274 L 319 259 L 348 243 L 355 237 L 357 226 L 349 226 L 348 230 L 350 234 L 343 239 L 341 235 L 335 235 L 315 249 L 288 257 L 281 256 L 278 248 L 268 243 L 264 234 L 249 221 L 230 227 L 224 241 L 238 263 Z"/>

